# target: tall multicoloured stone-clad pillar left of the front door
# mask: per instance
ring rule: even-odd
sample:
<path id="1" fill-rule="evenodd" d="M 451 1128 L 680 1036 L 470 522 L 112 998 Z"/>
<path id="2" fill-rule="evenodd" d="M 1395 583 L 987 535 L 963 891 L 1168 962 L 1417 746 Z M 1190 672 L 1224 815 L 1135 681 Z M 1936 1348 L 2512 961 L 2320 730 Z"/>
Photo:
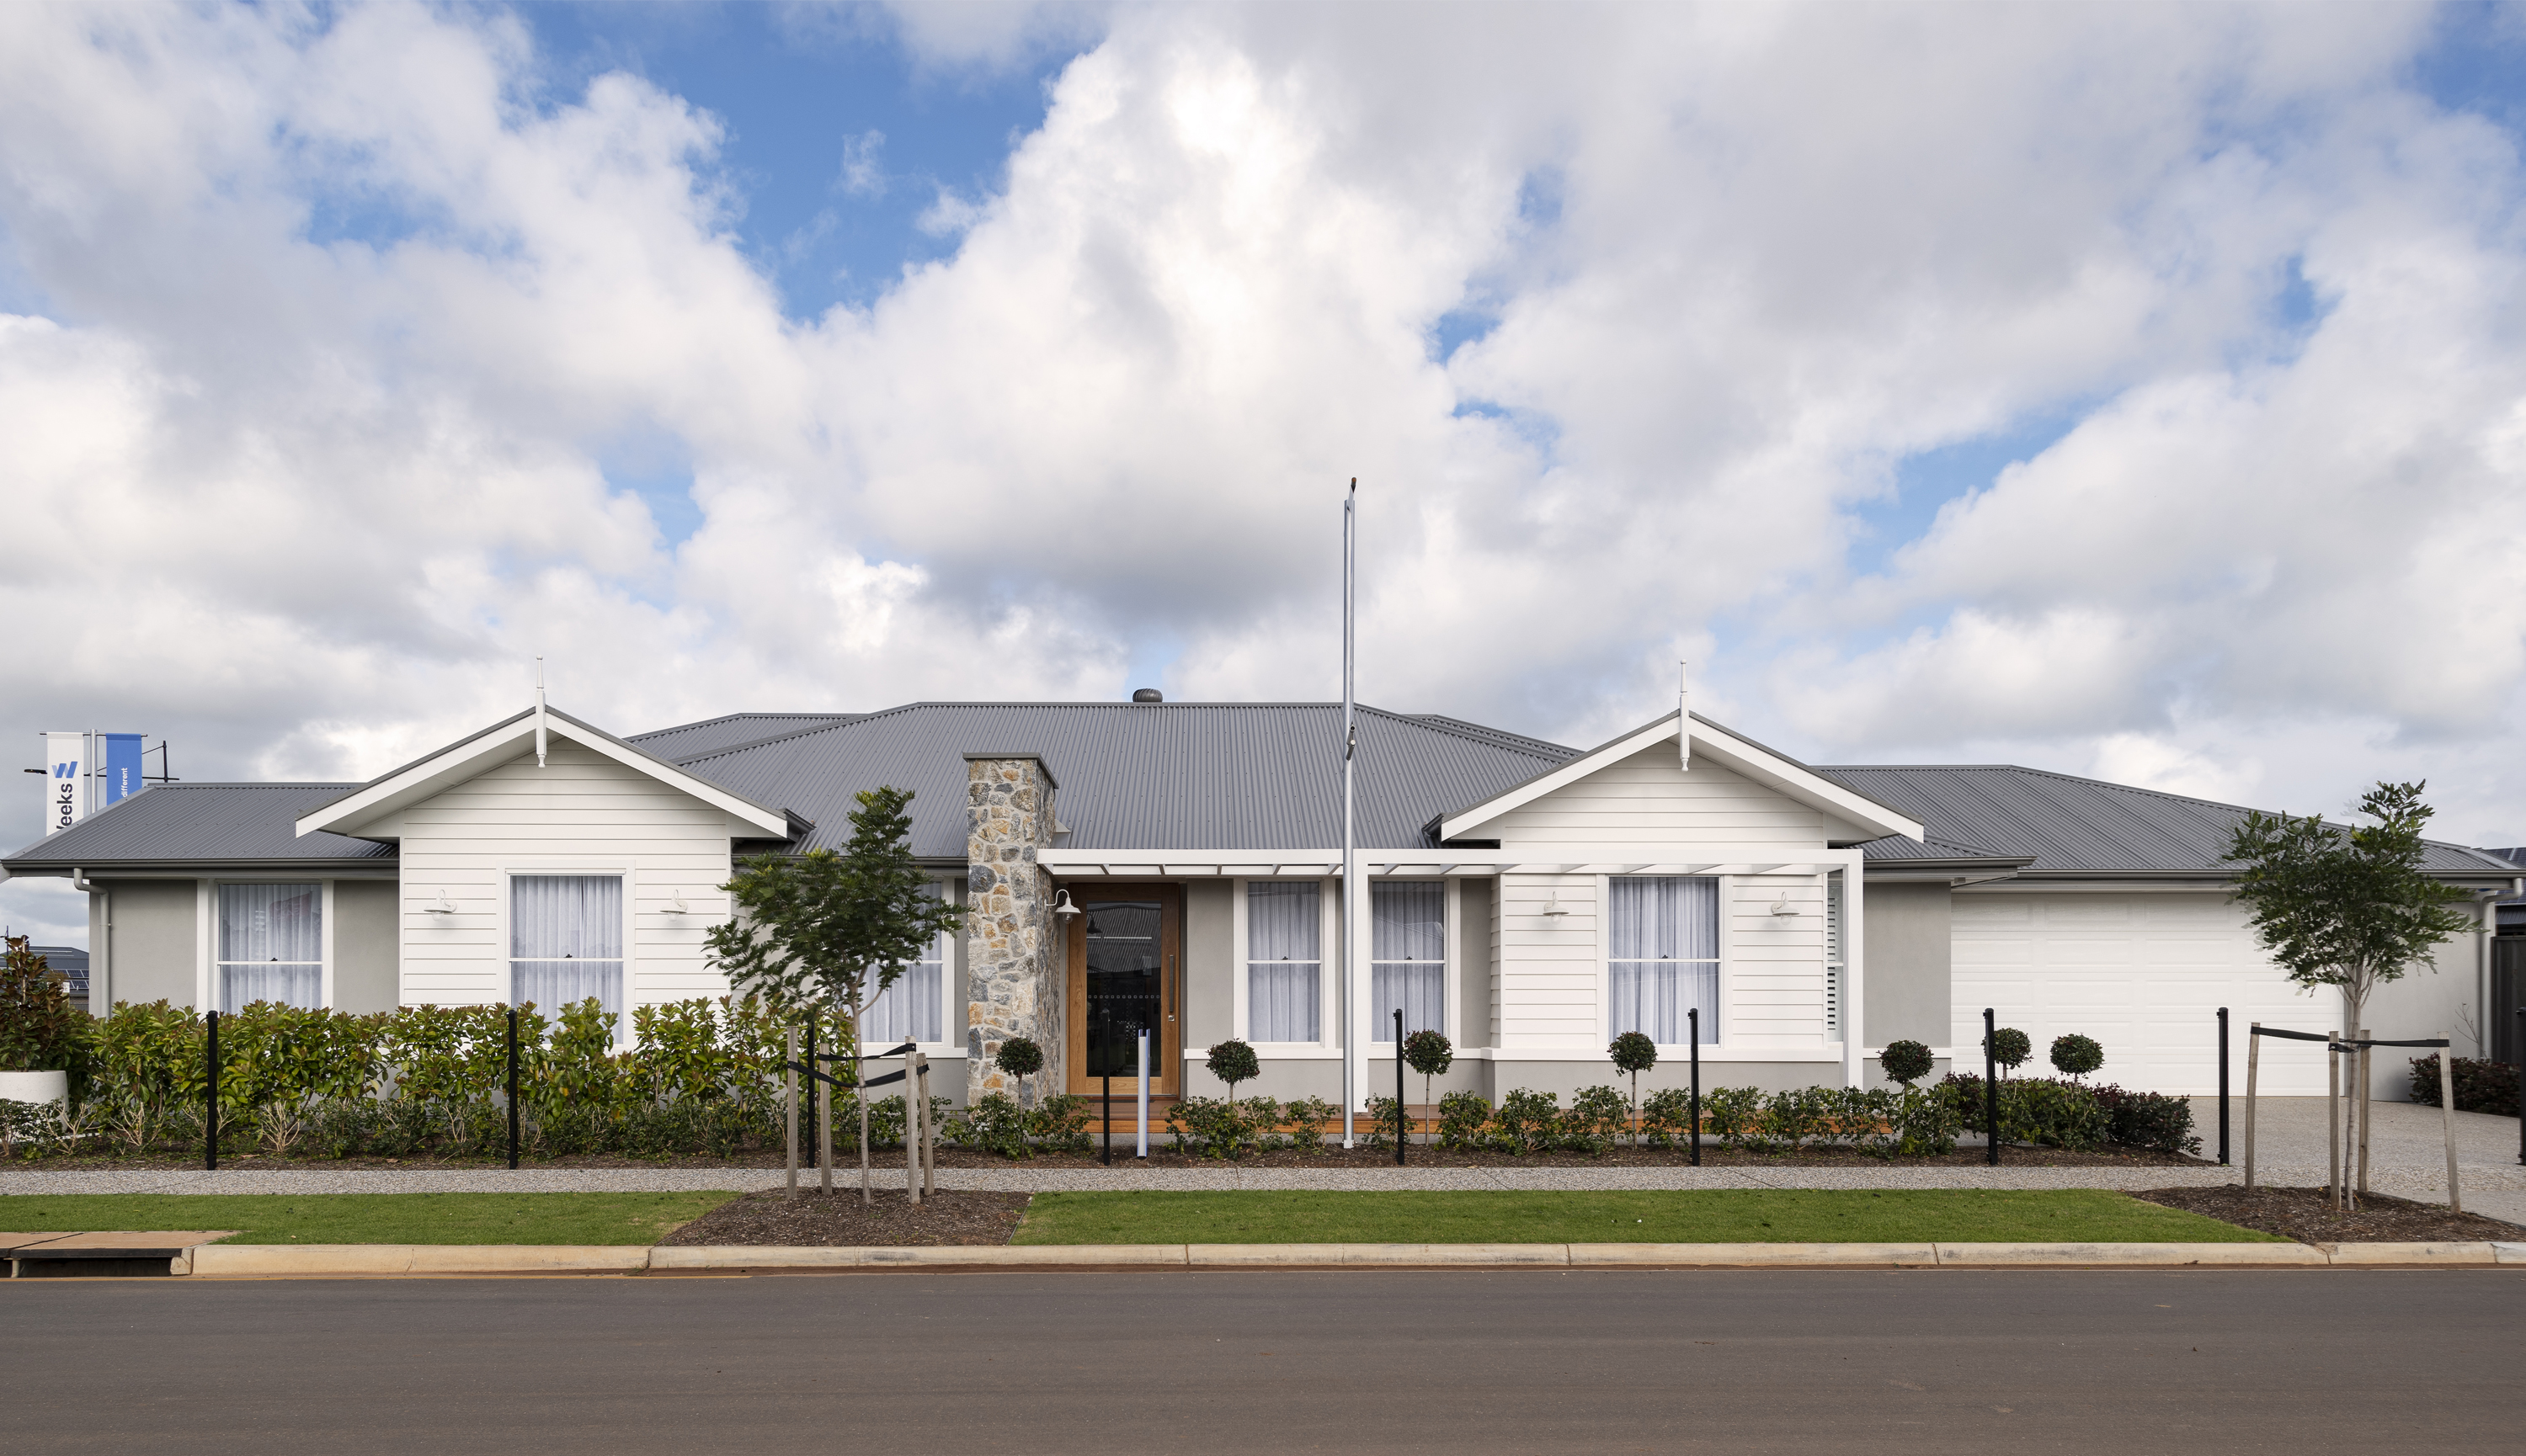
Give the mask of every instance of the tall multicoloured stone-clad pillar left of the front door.
<path id="1" fill-rule="evenodd" d="M 1053 881 L 1036 850 L 1053 843 L 1053 775 L 1023 754 L 965 754 L 965 1105 L 1015 1093 L 990 1060 L 1008 1037 L 1033 1037 L 1043 1070 L 1028 1093 L 1058 1093 L 1068 964 L 1053 921 Z"/>

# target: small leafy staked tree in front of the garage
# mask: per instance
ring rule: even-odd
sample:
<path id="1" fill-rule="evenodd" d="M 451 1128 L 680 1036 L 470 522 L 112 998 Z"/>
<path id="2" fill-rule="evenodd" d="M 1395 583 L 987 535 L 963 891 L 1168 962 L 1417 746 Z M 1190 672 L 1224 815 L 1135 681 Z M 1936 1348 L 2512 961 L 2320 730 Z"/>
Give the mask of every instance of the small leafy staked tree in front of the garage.
<path id="1" fill-rule="evenodd" d="M 2253 934 L 2271 959 L 2301 987 L 2342 989 L 2342 1030 L 2367 1024 L 2369 994 L 2400 982 L 2427 961 L 2443 941 L 2473 929 L 2450 906 L 2465 891 L 2430 878 L 2430 853 L 2420 838 L 2430 805 L 2427 782 L 2379 782 L 2359 797 L 2369 825 L 2349 830 L 2314 815 L 2246 815 L 2228 840 L 2228 858 L 2243 866 L 2236 898 L 2253 908 Z M 2369 1088 L 2359 1077 L 2359 1125 L 2367 1128 Z M 2367 1194 L 2364 1141 L 2359 1191 Z"/>

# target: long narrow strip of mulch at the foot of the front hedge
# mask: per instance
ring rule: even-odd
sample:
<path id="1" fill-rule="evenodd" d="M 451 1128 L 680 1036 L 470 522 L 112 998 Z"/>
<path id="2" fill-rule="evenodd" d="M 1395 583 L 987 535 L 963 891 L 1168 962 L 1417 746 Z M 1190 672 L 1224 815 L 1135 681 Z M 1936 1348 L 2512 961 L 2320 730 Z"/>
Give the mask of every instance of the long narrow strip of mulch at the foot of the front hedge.
<path id="1" fill-rule="evenodd" d="M 1473 1153 L 1458 1148 L 1425 1148 L 1415 1146 L 1407 1153 L 1415 1168 L 1680 1168 L 1692 1158 L 1680 1151 L 1662 1148 L 1614 1148 L 1604 1156 L 1586 1153 Z M 1114 1166 L 1142 1163 L 1132 1156 L 1129 1138 L 1114 1138 Z M 1804 1153 L 1730 1153 L 1725 1148 L 1703 1148 L 1705 1168 L 1970 1168 L 1983 1163 L 1980 1148 L 1958 1148 L 1955 1153 L 1940 1153 L 1935 1158 L 1872 1158 L 1854 1148 L 1809 1148 Z M 43 1168 L 43 1171 L 109 1171 L 109 1168 L 200 1168 L 202 1156 L 172 1156 L 149 1153 L 139 1158 L 101 1158 L 101 1156 L 71 1156 L 71 1158 L 40 1158 L 30 1163 L 5 1163 L 5 1168 Z M 222 1168 L 290 1168 L 290 1171 L 364 1171 L 364 1168 L 505 1168 L 508 1161 L 500 1153 L 485 1158 L 270 1158 L 258 1153 L 220 1153 Z M 525 1158 L 528 1168 L 781 1168 L 783 1156 L 775 1153 L 738 1153 L 733 1158 L 712 1156 L 674 1156 L 674 1158 L 626 1158 L 621 1153 L 573 1153 L 566 1158 Z M 856 1171 L 859 1158 L 851 1153 L 836 1153 L 836 1171 Z M 879 1148 L 871 1161 L 874 1168 L 902 1168 L 902 1148 Z M 940 1148 L 940 1168 L 1013 1168 L 995 1153 L 978 1153 L 967 1148 Z M 1023 1166 L 1036 1168 L 1094 1168 L 1096 1153 L 1046 1153 L 1028 1158 Z M 1172 1148 L 1149 1148 L 1147 1168 L 1220 1168 L 1218 1161 L 1187 1158 Z M 1394 1166 L 1394 1148 L 1354 1148 L 1344 1153 L 1341 1148 L 1326 1146 L 1321 1153 L 1255 1153 L 1235 1161 L 1238 1168 L 1379 1168 Z M 2182 1153 L 2152 1153 L 2145 1148 L 2099 1148 L 2094 1153 L 2064 1153 L 2061 1148 L 2001 1148 L 2003 1168 L 2200 1168 L 2203 1158 L 2188 1158 Z"/>

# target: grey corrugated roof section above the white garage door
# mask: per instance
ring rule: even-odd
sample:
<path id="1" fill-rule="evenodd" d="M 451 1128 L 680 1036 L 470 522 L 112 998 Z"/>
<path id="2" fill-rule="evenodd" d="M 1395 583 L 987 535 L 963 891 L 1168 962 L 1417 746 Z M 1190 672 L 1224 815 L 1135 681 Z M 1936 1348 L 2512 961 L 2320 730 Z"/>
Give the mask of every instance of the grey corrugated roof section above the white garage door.
<path id="1" fill-rule="evenodd" d="M 1917 818 L 1932 838 L 2031 855 L 2041 876 L 2225 876 L 2228 840 L 2248 813 L 2238 805 L 2134 790 L 2016 765 L 1819 767 L 1819 775 Z M 1879 858 L 1887 840 L 1867 845 Z M 1920 858 L 1920 845 L 1889 845 L 1887 858 Z M 2433 843 L 2425 868 L 2438 876 L 2506 876 L 2516 866 L 2465 845 Z"/>

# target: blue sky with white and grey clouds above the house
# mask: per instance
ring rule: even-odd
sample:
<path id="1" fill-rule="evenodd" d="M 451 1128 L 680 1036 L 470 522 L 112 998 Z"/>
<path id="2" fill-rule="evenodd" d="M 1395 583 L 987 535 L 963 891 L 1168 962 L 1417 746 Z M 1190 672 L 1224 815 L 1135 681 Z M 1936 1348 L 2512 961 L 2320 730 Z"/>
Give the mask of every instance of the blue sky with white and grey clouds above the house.
<path id="1" fill-rule="evenodd" d="M 0 717 L 1324 699 L 1356 474 L 1382 707 L 2526 843 L 2521 144 L 2488 5 L 8 5 Z"/>

